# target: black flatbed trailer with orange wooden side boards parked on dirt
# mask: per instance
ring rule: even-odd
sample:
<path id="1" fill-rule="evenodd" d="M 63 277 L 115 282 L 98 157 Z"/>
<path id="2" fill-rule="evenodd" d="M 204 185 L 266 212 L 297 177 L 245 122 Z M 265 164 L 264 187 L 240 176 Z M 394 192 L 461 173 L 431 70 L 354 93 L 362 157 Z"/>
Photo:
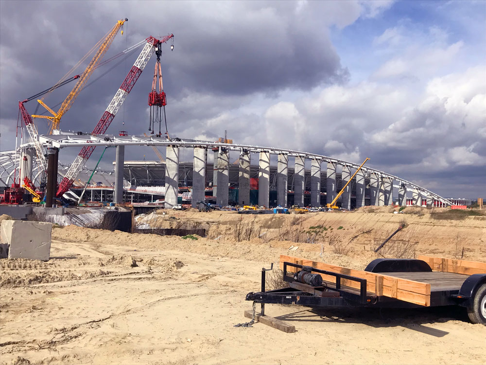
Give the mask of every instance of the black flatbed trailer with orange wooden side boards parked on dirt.
<path id="1" fill-rule="evenodd" d="M 273 265 L 272 265 L 273 268 Z M 272 269 L 271 268 L 271 269 Z M 472 323 L 486 325 L 486 263 L 441 257 L 376 259 L 364 271 L 292 256 L 280 256 L 287 288 L 249 292 L 246 300 L 261 305 L 307 307 L 421 308 L 461 306 Z M 255 313 L 255 311 L 253 311 Z M 245 312 L 248 317 L 249 312 Z"/>

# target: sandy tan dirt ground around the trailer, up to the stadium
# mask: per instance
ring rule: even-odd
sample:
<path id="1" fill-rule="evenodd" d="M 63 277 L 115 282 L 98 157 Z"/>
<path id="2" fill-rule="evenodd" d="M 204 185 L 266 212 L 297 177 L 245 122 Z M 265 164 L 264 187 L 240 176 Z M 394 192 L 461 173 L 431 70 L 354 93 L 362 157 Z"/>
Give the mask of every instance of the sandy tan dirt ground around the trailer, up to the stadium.
<path id="1" fill-rule="evenodd" d="M 187 212 L 176 218 L 210 221 L 208 238 L 68 226 L 53 229 L 48 262 L 0 260 L 0 363 L 486 363 L 486 327 L 470 324 L 462 308 L 267 305 L 268 315 L 297 331 L 260 323 L 233 327 L 248 320 L 245 294 L 260 289 L 261 268 L 280 254 L 364 269 L 381 257 L 371 250 L 376 243 L 406 221 L 390 241 L 406 254 L 484 261 L 484 216 L 448 220 L 385 209 L 308 214 L 300 221 L 258 216 L 252 228 L 258 235 L 240 235 L 240 242 L 239 215 Z M 254 218 L 244 219 L 243 233 Z M 284 240 L 289 237 L 299 242 Z"/>

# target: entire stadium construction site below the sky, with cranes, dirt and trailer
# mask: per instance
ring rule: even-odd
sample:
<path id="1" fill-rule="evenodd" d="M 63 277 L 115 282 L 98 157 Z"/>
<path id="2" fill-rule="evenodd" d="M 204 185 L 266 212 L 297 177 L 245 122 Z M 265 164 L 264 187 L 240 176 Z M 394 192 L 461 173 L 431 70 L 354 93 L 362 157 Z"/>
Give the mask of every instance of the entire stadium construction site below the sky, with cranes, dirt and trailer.
<path id="1" fill-rule="evenodd" d="M 0 364 L 486 363 L 481 198 L 440 196 L 373 156 L 237 143 L 229 127 L 174 136 L 174 34 L 104 59 L 127 21 L 18 102 L 16 148 L 0 152 Z M 63 130 L 97 69 L 136 51 L 101 119 Z M 146 133 L 110 128 L 146 90 Z M 153 156 L 133 159 L 140 146 Z"/>

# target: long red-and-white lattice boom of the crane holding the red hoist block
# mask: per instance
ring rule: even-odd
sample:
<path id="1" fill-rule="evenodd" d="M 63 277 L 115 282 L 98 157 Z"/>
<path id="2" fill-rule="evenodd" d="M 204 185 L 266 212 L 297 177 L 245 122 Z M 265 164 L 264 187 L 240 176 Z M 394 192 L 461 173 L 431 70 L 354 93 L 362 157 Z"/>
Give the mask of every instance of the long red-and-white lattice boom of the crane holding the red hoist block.
<path id="1" fill-rule="evenodd" d="M 126 97 L 134 87 L 135 83 L 139 79 L 140 74 L 142 73 L 143 69 L 147 65 L 150 57 L 154 54 L 155 50 L 158 48 L 159 44 L 167 42 L 169 39 L 173 38 L 174 34 L 170 34 L 162 39 L 156 39 L 152 36 L 146 39 L 145 46 L 143 47 L 140 55 L 137 57 L 134 65 L 128 72 L 127 76 L 123 80 L 120 88 L 115 93 L 115 96 L 111 100 L 108 108 L 104 111 L 103 116 L 101 117 L 100 121 L 93 129 L 92 134 L 103 134 L 106 132 L 106 129 L 110 126 L 111 122 L 115 118 L 118 110 L 120 110 L 121 105 L 125 101 Z M 171 49 L 174 49 L 174 45 L 171 44 Z M 94 146 L 85 146 L 81 149 L 81 152 L 76 156 L 74 162 L 69 167 L 68 171 L 66 172 L 66 176 L 62 179 L 59 187 L 57 189 L 56 196 L 62 197 L 64 193 L 66 193 L 69 188 L 72 186 L 74 179 L 78 176 L 79 172 L 86 164 L 87 160 L 93 153 L 95 147 Z"/>

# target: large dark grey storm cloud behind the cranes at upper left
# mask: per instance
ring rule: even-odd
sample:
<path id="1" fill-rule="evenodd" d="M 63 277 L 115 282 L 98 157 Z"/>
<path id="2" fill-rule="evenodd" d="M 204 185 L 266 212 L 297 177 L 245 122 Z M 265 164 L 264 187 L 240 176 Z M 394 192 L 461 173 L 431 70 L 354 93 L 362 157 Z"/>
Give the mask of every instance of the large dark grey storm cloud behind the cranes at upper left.
<path id="1" fill-rule="evenodd" d="M 338 21 L 352 21 L 356 17 L 355 9 L 350 8 L 349 14 L 332 20 L 332 11 L 325 12 L 322 4 L 315 4 L 313 9 L 304 7 L 298 12 L 296 6 L 293 1 L 2 1 L 2 131 L 12 132 L 15 127 L 10 124 L 17 119 L 17 100 L 52 86 L 118 18 L 124 17 L 129 18 L 125 34 L 117 36 L 105 59 L 149 35 L 159 37 L 170 32 L 175 35 L 174 52 L 168 51 L 166 46 L 162 56 L 164 89 L 173 106 L 167 111 L 177 122 L 175 131 L 185 129 L 179 128 L 179 123 L 217 116 L 223 110 L 216 109 L 215 105 L 224 106 L 226 110 L 240 107 L 245 95 L 277 95 L 285 89 L 308 90 L 323 83 L 345 81 L 347 70 L 341 67 L 330 42 L 328 26 Z M 126 63 L 122 62 L 87 87 L 63 117 L 62 128 L 90 131 L 138 53 L 139 50 Z M 114 126 L 109 129 L 112 133 L 122 128 L 137 134 L 146 131 L 147 94 L 153 65 L 154 59 L 140 76 L 123 110 L 119 111 Z M 97 70 L 90 81 L 112 66 Z M 77 71 L 81 72 L 82 69 Z M 54 91 L 45 102 L 53 107 L 72 86 L 69 84 Z M 198 100 L 191 100 L 186 107 L 175 108 L 187 95 L 218 95 L 224 100 L 213 99 L 211 102 L 215 105 L 206 107 L 198 105 Z M 36 101 L 26 107 L 33 113 Z M 125 126 L 121 125 L 123 119 L 127 122 Z M 42 121 L 38 126 L 41 132 L 47 129 Z M 9 145 L 8 148 L 13 147 L 12 143 Z"/>

